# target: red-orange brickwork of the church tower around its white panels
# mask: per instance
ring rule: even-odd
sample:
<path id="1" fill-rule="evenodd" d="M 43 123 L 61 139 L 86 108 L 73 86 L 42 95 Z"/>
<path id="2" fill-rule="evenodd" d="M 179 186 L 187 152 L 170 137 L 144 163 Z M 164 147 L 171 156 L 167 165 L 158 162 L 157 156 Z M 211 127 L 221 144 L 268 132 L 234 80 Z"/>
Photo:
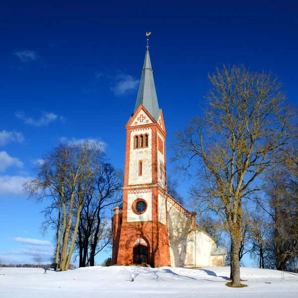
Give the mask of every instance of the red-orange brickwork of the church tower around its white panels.
<path id="1" fill-rule="evenodd" d="M 144 115 L 148 117 L 150 122 L 148 124 L 136 125 L 137 115 L 140 111 L 144 112 Z M 164 193 L 166 191 L 166 166 L 165 166 L 165 137 L 166 132 L 164 129 L 164 122 L 162 113 L 160 114 L 160 121 L 157 123 L 146 109 L 140 105 L 138 110 L 132 116 L 131 120 L 126 126 L 126 155 L 125 155 L 125 176 L 124 176 L 124 188 L 123 188 L 123 206 L 122 208 L 114 209 L 114 218 L 112 219 L 113 230 L 113 255 L 112 262 L 117 265 L 130 265 L 134 263 L 134 246 L 139 245 L 140 241 L 142 245 L 148 248 L 148 261 L 147 263 L 152 266 L 170 266 L 170 254 L 169 254 L 169 241 L 168 241 L 168 227 L 166 224 L 159 222 L 158 217 L 158 192 Z M 134 126 L 132 124 L 134 123 Z M 131 151 L 131 132 L 138 129 L 151 129 L 151 160 L 152 163 L 152 183 L 150 184 L 138 184 L 129 185 L 129 172 L 130 167 L 130 151 Z M 158 171 L 159 162 L 157 157 L 158 152 L 158 135 L 157 132 L 163 137 L 163 164 L 164 164 L 164 185 L 158 184 Z M 147 157 L 148 158 L 148 157 Z M 144 159 L 144 158 L 143 158 Z M 142 159 L 142 160 L 143 160 Z M 136 168 L 139 168 L 137 165 Z M 143 171 L 146 169 L 143 169 Z M 142 194 L 150 193 L 152 195 L 151 206 L 148 210 L 151 210 L 150 221 L 128 221 L 128 210 L 131 210 L 131 206 L 128 206 L 129 193 Z M 162 207 L 163 208 L 163 207 Z M 166 205 L 164 206 L 166 208 Z M 147 211 L 148 212 L 148 211 Z M 166 211 L 165 211 L 166 215 Z"/>

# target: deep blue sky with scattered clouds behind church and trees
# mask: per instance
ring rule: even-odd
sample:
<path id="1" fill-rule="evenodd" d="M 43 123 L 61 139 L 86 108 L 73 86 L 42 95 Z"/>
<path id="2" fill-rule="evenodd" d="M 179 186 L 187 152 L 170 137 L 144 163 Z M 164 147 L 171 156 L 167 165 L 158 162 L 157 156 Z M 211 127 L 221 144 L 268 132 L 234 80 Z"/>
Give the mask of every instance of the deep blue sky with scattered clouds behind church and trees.
<path id="1" fill-rule="evenodd" d="M 61 140 L 106 144 L 124 168 L 125 124 L 135 108 L 150 35 L 150 57 L 167 147 L 200 113 L 207 74 L 223 64 L 272 69 L 297 101 L 294 1 L 9 1 L 0 7 L 0 256 L 32 262 L 51 254 L 43 204 L 23 179 Z M 170 149 L 167 150 L 168 169 Z M 187 194 L 189 181 L 179 190 Z M 44 241 L 44 242 L 40 242 Z M 108 254 L 98 257 L 101 262 Z"/>

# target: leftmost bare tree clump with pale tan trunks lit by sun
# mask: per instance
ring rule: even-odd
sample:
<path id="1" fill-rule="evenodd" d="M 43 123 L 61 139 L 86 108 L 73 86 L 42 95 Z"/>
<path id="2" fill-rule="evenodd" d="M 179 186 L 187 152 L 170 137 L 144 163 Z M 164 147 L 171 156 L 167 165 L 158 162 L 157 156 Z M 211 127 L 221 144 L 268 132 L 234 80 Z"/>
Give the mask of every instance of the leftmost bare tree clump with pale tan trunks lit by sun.
<path id="1" fill-rule="evenodd" d="M 93 189 L 106 154 L 99 143 L 60 144 L 36 164 L 37 176 L 24 183 L 29 198 L 48 199 L 46 227 L 56 231 L 55 263 L 69 268 L 86 194 Z"/>

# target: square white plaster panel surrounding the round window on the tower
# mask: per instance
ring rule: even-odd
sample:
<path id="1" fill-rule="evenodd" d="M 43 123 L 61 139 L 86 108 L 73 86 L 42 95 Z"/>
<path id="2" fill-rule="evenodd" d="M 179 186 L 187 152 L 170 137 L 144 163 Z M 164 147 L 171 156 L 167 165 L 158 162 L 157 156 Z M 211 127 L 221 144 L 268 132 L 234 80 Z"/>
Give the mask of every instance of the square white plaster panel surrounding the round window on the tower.
<path id="1" fill-rule="evenodd" d="M 132 206 L 135 200 L 144 199 L 147 202 L 147 210 L 143 214 L 135 214 Z M 152 221 L 152 193 L 128 194 L 127 198 L 127 221 L 128 222 L 148 222 Z"/>

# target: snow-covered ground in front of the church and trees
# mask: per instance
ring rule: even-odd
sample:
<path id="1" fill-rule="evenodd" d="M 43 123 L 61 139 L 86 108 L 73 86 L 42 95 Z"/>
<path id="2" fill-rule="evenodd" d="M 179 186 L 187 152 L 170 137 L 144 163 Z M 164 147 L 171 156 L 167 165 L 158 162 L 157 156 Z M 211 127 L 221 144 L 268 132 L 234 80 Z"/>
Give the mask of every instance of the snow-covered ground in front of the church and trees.
<path id="1" fill-rule="evenodd" d="M 298 274 L 241 268 L 247 288 L 226 287 L 228 267 L 90 267 L 55 272 L 36 268 L 1 268 L 0 298 L 129 297 L 298 297 Z M 131 282 L 131 275 L 135 281 Z"/>

